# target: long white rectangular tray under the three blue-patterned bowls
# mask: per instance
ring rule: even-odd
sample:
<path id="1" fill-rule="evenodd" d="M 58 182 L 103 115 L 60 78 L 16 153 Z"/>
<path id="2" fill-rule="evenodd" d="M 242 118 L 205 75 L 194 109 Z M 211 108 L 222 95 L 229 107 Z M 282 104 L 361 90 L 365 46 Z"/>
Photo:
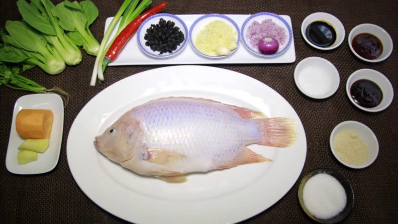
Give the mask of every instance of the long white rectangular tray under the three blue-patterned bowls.
<path id="1" fill-rule="evenodd" d="M 194 21 L 202 16 L 202 14 L 194 15 L 177 15 L 187 25 L 188 30 Z M 243 22 L 250 15 L 226 14 L 226 16 L 233 19 L 239 27 L 242 27 Z M 292 20 L 289 15 L 281 15 L 289 25 L 292 27 Z M 109 17 L 105 22 L 105 30 L 109 26 L 113 17 Z M 117 25 L 116 25 L 117 27 Z M 113 30 L 110 39 L 115 35 L 116 28 Z M 184 65 L 184 64 L 273 64 L 273 63 L 293 63 L 296 61 L 296 51 L 294 37 L 289 49 L 278 56 L 272 58 L 264 58 L 251 53 L 244 44 L 239 44 L 236 52 L 228 57 L 223 58 L 206 58 L 199 55 L 192 48 L 190 43 L 179 54 L 168 58 L 154 58 L 151 57 L 138 47 L 137 33 L 127 42 L 126 46 L 120 52 L 119 56 L 109 66 L 118 65 Z"/>

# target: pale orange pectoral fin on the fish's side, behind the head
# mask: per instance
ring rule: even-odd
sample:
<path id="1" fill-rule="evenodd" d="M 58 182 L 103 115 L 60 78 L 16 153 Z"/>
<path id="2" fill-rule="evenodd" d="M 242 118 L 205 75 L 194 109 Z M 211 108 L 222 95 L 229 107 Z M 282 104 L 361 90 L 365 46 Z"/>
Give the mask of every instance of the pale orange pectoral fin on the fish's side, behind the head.
<path id="1" fill-rule="evenodd" d="M 187 158 L 187 156 L 169 149 L 148 148 L 144 153 L 144 160 L 162 165 L 173 163 L 184 158 Z"/>

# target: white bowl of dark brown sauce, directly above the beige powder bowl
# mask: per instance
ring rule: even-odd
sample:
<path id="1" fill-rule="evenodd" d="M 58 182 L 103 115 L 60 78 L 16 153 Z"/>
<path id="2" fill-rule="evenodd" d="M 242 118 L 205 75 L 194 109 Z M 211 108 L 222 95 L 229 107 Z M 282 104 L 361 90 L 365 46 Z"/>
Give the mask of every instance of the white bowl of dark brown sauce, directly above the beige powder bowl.
<path id="1" fill-rule="evenodd" d="M 372 69 L 360 69 L 348 77 L 347 96 L 357 108 L 367 112 L 380 112 L 393 102 L 391 82 L 382 73 Z"/>

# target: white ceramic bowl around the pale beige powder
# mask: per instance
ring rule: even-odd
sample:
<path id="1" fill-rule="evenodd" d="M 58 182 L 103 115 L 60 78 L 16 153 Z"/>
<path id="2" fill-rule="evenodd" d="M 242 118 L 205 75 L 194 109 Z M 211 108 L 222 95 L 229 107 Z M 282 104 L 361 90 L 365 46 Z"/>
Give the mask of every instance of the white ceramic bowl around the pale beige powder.
<path id="1" fill-rule="evenodd" d="M 333 146 L 333 139 L 337 133 L 344 130 L 353 131 L 357 133 L 358 137 L 365 144 L 368 150 L 368 158 L 363 164 L 356 165 L 356 164 L 347 163 L 337 155 Z M 376 160 L 377 155 L 379 154 L 379 142 L 377 140 L 375 133 L 373 133 L 373 131 L 368 126 L 358 121 L 347 120 L 337 124 L 337 126 L 334 127 L 332 133 L 330 134 L 329 144 L 334 157 L 336 157 L 336 159 L 343 165 L 354 169 L 361 169 L 371 165 Z"/>

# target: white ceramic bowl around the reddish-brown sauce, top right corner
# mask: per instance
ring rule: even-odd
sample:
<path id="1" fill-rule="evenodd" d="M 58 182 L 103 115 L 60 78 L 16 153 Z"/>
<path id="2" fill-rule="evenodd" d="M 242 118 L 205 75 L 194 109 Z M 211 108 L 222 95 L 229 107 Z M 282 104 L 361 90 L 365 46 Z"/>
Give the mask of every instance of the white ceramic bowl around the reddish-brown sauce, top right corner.
<path id="1" fill-rule="evenodd" d="M 383 52 L 380 57 L 370 60 L 360 56 L 357 54 L 357 52 L 355 52 L 355 50 L 352 48 L 352 39 L 354 39 L 354 37 L 360 33 L 370 33 L 380 39 L 383 44 Z M 391 39 L 389 33 L 382 27 L 370 23 L 360 24 L 352 28 L 350 34 L 348 34 L 348 46 L 350 46 L 352 53 L 357 56 L 357 58 L 366 62 L 380 62 L 386 60 L 390 56 L 391 52 L 393 52 L 393 40 Z"/>

